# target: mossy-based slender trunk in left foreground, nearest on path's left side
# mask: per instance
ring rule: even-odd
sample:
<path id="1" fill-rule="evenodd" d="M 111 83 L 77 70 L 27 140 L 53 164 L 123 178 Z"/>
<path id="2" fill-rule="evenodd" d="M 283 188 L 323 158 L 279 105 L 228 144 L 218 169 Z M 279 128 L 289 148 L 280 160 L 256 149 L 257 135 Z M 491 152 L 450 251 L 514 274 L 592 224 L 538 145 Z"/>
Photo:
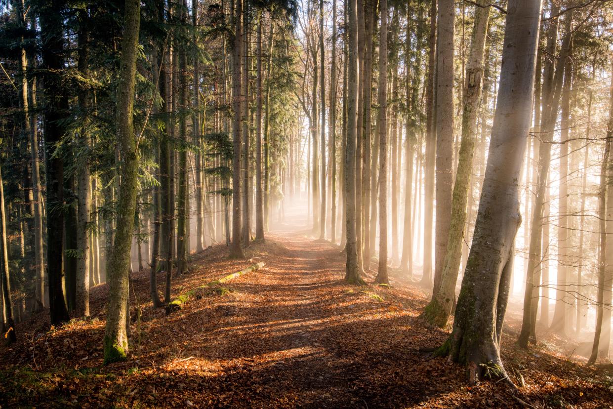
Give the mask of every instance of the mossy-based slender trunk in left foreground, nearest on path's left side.
<path id="1" fill-rule="evenodd" d="M 117 143 L 123 163 L 117 204 L 117 230 L 109 261 L 109 310 L 104 328 L 104 364 L 123 361 L 128 354 L 128 271 L 136 212 L 140 142 L 135 136 L 132 118 L 139 29 L 140 1 L 126 0 L 117 98 Z"/>

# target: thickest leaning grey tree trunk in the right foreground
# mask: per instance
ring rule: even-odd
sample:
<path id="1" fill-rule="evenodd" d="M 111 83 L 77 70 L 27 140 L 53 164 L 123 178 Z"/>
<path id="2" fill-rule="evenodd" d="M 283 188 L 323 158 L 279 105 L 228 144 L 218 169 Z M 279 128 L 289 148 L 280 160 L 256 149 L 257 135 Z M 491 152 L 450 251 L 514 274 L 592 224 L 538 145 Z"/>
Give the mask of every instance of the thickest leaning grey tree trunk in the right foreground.
<path id="1" fill-rule="evenodd" d="M 534 95 L 541 2 L 510 0 L 503 59 L 485 179 L 454 327 L 436 351 L 466 364 L 471 383 L 494 373 L 506 377 L 500 337 L 520 224 L 519 174 Z M 485 371 L 485 369 L 488 369 Z"/>

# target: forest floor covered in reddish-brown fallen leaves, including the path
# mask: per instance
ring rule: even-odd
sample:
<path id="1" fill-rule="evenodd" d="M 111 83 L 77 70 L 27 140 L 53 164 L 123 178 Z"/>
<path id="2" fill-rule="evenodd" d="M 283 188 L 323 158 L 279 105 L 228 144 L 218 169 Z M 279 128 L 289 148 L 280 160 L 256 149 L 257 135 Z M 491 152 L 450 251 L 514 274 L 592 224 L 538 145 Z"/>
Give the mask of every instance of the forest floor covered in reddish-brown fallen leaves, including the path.
<path id="1" fill-rule="evenodd" d="M 148 271 L 134 273 L 127 362 L 102 367 L 106 285 L 92 291 L 91 319 L 19 324 L 20 342 L 0 349 L 1 407 L 520 407 L 503 382 L 470 387 L 460 365 L 419 351 L 449 334 L 424 326 L 419 287 L 347 285 L 343 254 L 307 232 L 276 232 L 246 254 L 194 255 L 173 296 L 265 266 L 168 316 L 151 307 Z M 613 408 L 612 373 L 514 338 L 503 335 L 502 357 L 531 407 Z"/>

